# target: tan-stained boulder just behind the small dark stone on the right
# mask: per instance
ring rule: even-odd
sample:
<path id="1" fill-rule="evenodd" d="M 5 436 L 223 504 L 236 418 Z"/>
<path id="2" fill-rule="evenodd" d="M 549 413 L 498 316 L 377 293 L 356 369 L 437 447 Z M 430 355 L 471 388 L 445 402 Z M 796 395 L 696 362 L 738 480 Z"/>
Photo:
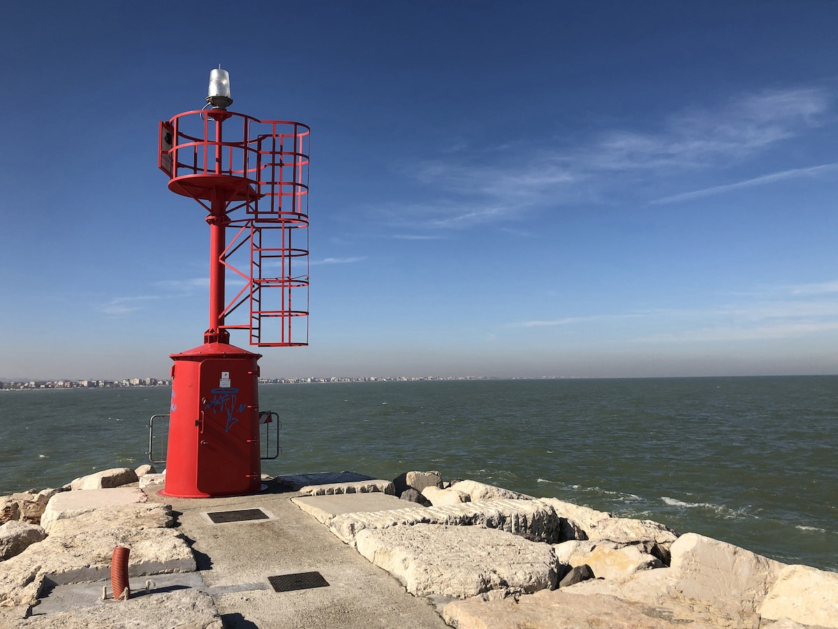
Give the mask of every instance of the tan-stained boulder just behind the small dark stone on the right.
<path id="1" fill-rule="evenodd" d="M 664 567 L 660 559 L 637 546 L 615 542 L 571 541 L 555 544 L 553 549 L 560 564 L 587 565 L 599 579 L 626 580 L 639 570 Z"/>

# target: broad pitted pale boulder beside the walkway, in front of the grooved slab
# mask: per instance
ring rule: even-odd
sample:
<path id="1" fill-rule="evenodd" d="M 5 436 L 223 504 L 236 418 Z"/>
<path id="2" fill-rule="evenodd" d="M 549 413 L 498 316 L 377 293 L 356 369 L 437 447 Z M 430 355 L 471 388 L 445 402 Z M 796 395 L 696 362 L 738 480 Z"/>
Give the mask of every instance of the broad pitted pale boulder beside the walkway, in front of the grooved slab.
<path id="1" fill-rule="evenodd" d="M 556 587 L 550 546 L 491 528 L 370 528 L 358 533 L 355 543 L 412 595 L 502 598 Z"/>

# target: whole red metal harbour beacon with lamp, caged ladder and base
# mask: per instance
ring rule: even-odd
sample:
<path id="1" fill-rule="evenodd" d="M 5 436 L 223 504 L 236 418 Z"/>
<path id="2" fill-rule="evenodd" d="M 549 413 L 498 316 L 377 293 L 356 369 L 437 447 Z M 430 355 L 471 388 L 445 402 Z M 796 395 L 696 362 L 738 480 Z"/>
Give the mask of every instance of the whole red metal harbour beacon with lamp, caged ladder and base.
<path id="1" fill-rule="evenodd" d="M 172 354 L 164 496 L 261 488 L 258 359 L 230 345 L 308 345 L 308 139 L 300 122 L 230 112 L 230 75 L 209 74 L 204 109 L 160 122 L 168 189 L 199 203 L 209 224 L 209 326 L 204 344 Z M 229 272 L 229 273 L 228 273 Z M 232 299 L 225 288 L 239 287 Z M 303 318 L 303 319 L 301 319 Z M 292 322 L 294 330 L 292 335 Z"/>

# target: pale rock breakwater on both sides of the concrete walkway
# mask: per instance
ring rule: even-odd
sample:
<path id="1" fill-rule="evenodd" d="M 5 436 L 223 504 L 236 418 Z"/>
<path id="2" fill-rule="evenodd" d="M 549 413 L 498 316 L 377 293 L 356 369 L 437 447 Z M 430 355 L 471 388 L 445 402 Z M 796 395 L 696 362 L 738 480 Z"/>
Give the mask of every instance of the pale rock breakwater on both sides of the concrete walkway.
<path id="1" fill-rule="evenodd" d="M 0 496 L 0 627 L 221 629 L 201 587 L 43 610 L 69 584 L 107 583 L 115 546 L 131 548 L 132 577 L 196 570 L 171 507 L 142 491 L 151 472 L 106 470 Z M 838 629 L 836 573 L 438 472 L 349 476 L 308 484 L 311 476 L 283 476 L 275 486 L 293 490 L 297 507 L 411 595 L 427 597 L 449 626 Z"/>

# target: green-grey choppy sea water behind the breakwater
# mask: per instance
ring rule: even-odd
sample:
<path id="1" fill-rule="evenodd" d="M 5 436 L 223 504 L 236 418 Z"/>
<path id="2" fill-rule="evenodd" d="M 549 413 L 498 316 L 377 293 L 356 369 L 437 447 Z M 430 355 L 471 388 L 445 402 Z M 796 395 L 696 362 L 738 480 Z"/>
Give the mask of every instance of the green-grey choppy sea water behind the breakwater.
<path id="1" fill-rule="evenodd" d="M 148 418 L 168 412 L 169 395 L 0 393 L 0 495 L 147 462 Z M 440 470 L 838 570 L 838 377 L 272 384 L 259 395 L 282 423 L 266 474 Z"/>

